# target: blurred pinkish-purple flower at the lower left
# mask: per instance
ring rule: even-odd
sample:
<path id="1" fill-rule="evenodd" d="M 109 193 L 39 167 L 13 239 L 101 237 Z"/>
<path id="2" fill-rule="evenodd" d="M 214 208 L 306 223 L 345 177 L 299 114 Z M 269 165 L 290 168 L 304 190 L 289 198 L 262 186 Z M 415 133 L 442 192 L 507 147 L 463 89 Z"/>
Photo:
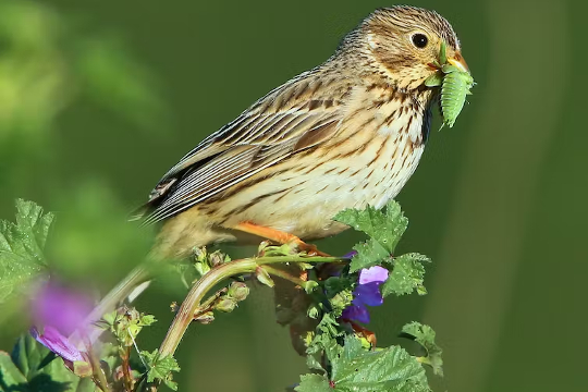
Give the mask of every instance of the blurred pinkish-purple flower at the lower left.
<path id="1" fill-rule="evenodd" d="M 69 336 L 74 332 L 81 336 L 86 334 L 89 327 L 86 317 L 91 305 L 83 293 L 50 281 L 36 292 L 32 301 L 35 327 L 30 328 L 30 334 L 63 359 L 85 360 L 83 352 Z"/>

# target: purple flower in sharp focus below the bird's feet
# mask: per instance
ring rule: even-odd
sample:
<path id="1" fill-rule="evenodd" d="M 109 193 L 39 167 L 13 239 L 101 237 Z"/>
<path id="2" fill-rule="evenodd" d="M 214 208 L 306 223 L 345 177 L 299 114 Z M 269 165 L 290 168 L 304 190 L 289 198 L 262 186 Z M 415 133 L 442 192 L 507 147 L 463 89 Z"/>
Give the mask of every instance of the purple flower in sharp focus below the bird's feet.
<path id="1" fill-rule="evenodd" d="M 380 266 L 364 268 L 359 271 L 359 282 L 353 291 L 352 304 L 343 310 L 342 318 L 350 321 L 369 322 L 367 306 L 383 304 L 380 284 L 388 279 L 388 270 Z"/>

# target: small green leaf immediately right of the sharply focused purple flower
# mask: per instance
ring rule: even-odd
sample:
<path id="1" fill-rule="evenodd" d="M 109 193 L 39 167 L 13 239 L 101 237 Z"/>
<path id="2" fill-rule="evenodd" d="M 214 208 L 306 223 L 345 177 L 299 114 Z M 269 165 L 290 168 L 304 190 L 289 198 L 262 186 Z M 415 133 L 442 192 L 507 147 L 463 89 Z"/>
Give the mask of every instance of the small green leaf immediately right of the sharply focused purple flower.
<path id="1" fill-rule="evenodd" d="M 392 272 L 382 284 L 382 296 L 411 294 L 414 290 L 419 295 L 427 294 L 422 285 L 425 277 L 422 264 L 430 261 L 427 256 L 416 253 L 394 257 Z"/>

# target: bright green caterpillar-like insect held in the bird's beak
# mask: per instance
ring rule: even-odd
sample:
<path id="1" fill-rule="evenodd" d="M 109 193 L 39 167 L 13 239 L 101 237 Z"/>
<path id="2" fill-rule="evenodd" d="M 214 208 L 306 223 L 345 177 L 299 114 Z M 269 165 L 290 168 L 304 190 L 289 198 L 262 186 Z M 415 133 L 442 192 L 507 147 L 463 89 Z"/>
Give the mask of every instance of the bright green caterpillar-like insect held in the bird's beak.
<path id="1" fill-rule="evenodd" d="M 425 81 L 425 85 L 428 87 L 441 86 L 440 106 L 443 125 L 453 127 L 475 83 L 468 72 L 461 71 L 457 66 L 448 63 L 444 42 L 441 44 L 439 60 L 440 72 L 429 76 Z"/>

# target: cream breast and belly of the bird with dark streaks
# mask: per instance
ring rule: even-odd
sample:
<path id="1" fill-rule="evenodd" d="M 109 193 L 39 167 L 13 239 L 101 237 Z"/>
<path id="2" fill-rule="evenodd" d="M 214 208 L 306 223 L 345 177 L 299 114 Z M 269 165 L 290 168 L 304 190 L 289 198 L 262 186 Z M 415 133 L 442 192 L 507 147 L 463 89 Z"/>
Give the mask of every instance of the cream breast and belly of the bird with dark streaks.
<path id="1" fill-rule="evenodd" d="M 224 200 L 223 225 L 252 221 L 318 238 L 344 230 L 332 218 L 345 208 L 383 207 L 414 173 L 424 149 L 422 113 L 401 108 L 390 102 L 357 112 L 329 143 L 259 173 L 252 186 Z"/>

